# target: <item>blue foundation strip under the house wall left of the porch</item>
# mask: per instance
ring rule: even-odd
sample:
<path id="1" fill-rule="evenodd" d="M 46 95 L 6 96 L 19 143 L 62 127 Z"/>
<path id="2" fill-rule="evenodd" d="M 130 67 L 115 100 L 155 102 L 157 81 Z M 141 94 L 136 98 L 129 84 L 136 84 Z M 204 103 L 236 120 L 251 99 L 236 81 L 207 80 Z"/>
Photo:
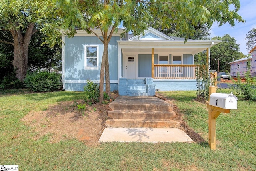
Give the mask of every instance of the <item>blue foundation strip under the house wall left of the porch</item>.
<path id="1" fill-rule="evenodd" d="M 65 90 L 66 91 L 84 91 L 84 86 L 87 83 L 65 83 Z M 110 91 L 117 91 L 118 84 L 117 83 L 110 83 Z M 104 84 L 104 91 L 105 91 L 105 84 Z"/>

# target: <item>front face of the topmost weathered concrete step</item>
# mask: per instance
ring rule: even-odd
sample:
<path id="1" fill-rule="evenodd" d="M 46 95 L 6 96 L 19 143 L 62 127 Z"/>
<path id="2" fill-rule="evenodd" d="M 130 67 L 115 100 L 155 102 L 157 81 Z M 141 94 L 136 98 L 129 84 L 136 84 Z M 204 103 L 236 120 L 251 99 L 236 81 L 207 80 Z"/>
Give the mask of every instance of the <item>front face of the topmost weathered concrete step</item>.
<path id="1" fill-rule="evenodd" d="M 172 105 L 169 103 L 162 103 L 162 104 L 143 104 L 143 103 L 136 103 L 136 101 L 131 103 L 115 103 L 112 102 L 109 104 L 110 109 L 112 110 L 139 110 L 139 111 L 173 111 Z"/>

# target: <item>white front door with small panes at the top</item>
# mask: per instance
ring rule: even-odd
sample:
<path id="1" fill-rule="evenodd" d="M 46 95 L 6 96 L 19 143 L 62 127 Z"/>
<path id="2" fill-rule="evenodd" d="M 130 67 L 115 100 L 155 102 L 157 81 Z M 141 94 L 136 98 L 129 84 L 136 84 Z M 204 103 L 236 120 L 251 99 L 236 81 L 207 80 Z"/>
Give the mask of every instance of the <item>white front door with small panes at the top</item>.
<path id="1" fill-rule="evenodd" d="M 125 77 L 136 78 L 136 56 L 126 55 L 125 57 Z"/>

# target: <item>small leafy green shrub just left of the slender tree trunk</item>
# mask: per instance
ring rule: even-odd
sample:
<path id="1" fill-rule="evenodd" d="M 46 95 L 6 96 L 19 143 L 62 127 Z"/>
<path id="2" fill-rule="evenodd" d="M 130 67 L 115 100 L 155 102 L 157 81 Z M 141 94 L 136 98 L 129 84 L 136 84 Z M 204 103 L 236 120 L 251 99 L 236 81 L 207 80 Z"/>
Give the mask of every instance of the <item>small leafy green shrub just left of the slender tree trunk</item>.
<path id="1" fill-rule="evenodd" d="M 98 103 L 100 97 L 100 89 L 97 83 L 87 80 L 86 86 L 84 86 L 86 95 L 85 101 L 87 103 Z"/>

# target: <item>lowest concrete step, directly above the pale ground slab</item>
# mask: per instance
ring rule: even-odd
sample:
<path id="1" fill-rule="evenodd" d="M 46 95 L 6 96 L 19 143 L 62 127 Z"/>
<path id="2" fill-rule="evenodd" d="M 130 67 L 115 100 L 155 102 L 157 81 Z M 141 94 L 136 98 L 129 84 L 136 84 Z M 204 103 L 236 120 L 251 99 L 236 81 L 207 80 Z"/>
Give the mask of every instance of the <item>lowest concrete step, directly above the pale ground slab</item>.
<path id="1" fill-rule="evenodd" d="M 180 127 L 180 122 L 163 119 L 108 119 L 105 122 L 106 127 L 148 127 L 148 128 L 178 128 Z"/>

